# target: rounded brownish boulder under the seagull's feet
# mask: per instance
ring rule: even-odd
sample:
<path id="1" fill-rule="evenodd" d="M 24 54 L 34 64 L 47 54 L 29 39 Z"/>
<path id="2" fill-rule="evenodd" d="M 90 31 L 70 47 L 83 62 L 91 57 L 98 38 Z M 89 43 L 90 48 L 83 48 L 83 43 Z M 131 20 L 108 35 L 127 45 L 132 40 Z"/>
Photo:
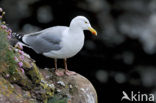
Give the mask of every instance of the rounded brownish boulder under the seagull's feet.
<path id="1" fill-rule="evenodd" d="M 59 69 L 64 72 L 64 69 Z M 56 103 L 54 100 L 64 100 L 67 103 L 97 103 L 97 94 L 88 79 L 76 73 L 75 75 L 64 75 L 58 77 L 50 70 L 40 70 L 44 78 L 48 76 L 55 84 L 56 94 L 49 99 L 49 103 Z M 63 103 L 64 103 L 63 102 Z M 65 103 L 66 103 L 65 102 Z"/>

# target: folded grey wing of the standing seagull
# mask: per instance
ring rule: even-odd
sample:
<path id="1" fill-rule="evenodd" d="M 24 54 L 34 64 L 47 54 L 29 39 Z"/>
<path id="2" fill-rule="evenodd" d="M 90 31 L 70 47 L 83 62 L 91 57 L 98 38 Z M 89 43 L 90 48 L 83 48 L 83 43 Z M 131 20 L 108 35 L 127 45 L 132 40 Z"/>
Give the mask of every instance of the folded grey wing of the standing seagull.
<path id="1" fill-rule="evenodd" d="M 67 27 L 52 27 L 36 34 L 28 35 L 25 42 L 37 53 L 60 50 L 63 31 Z"/>

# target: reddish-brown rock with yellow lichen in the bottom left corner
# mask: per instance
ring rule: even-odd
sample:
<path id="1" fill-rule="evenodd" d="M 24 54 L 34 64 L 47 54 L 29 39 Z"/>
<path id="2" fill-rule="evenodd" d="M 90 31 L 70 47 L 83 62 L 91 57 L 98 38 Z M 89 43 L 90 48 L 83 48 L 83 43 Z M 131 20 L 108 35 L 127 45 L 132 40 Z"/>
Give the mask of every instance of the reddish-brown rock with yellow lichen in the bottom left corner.
<path id="1" fill-rule="evenodd" d="M 18 85 L 12 85 L 0 76 L 0 103 L 36 103 L 29 91 L 22 90 Z"/>

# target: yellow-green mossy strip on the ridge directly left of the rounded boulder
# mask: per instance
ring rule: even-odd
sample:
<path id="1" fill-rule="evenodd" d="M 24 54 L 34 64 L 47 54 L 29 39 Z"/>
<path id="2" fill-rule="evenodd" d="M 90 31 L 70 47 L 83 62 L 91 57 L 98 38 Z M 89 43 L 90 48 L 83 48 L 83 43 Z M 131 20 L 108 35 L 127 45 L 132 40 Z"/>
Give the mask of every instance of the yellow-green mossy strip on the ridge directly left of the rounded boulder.
<path id="1" fill-rule="evenodd" d="M 38 100 L 42 100 L 44 103 L 47 103 L 48 98 L 54 95 L 54 87 L 51 87 L 50 84 L 44 80 L 44 77 L 39 72 L 39 69 L 35 63 L 31 63 L 31 65 L 31 69 L 26 69 L 26 74 L 35 84 L 32 92 L 35 95 L 38 95 Z"/>

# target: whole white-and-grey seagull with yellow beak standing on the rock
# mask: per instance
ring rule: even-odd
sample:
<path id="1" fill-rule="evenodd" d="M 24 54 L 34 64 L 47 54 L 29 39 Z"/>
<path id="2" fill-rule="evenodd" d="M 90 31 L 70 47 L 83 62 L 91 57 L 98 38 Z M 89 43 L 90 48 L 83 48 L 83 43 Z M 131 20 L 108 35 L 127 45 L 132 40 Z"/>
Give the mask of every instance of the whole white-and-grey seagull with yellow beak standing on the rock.
<path id="1" fill-rule="evenodd" d="M 20 35 L 14 33 L 24 46 L 33 49 L 36 53 L 54 59 L 55 73 L 58 76 L 72 75 L 75 72 L 69 71 L 67 59 L 75 56 L 84 45 L 84 30 L 89 30 L 97 36 L 89 20 L 84 16 L 76 16 L 68 26 L 54 26 L 39 32 Z M 57 59 L 64 59 L 65 72 L 57 69 Z"/>

